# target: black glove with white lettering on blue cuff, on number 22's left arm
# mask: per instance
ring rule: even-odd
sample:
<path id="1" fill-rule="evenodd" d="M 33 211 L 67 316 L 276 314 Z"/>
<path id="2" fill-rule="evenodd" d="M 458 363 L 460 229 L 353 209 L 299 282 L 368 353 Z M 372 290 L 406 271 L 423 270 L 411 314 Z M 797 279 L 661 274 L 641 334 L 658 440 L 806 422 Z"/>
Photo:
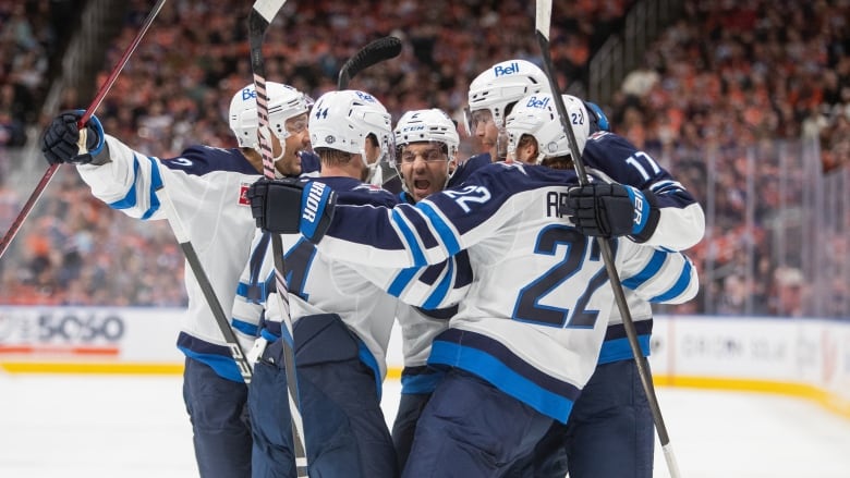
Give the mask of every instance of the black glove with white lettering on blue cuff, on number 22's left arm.
<path id="1" fill-rule="evenodd" d="M 318 244 L 330 226 L 337 195 L 324 183 L 260 177 L 247 191 L 257 228 L 276 234 L 301 233 Z"/>

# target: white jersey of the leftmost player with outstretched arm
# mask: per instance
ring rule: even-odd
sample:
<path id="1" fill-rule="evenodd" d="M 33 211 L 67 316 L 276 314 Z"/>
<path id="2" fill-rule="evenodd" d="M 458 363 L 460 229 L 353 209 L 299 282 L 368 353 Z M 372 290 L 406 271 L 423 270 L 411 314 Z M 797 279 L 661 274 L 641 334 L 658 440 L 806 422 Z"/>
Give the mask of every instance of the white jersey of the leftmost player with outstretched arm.
<path id="1" fill-rule="evenodd" d="M 239 149 L 192 146 L 180 157 L 159 159 L 131 149 L 106 135 L 111 161 L 82 164 L 77 171 L 92 194 L 112 209 L 142 220 L 166 219 L 157 189 L 163 185 L 209 278 L 224 314 L 233 304 L 233 291 L 248 257 L 256 225 L 246 197 L 260 174 Z M 318 158 L 302 156 L 307 175 L 318 170 Z M 189 307 L 181 318 L 178 348 L 203 361 L 219 376 L 242 381 L 212 311 L 192 273 L 185 267 Z M 236 330 L 243 350 L 253 336 Z"/>

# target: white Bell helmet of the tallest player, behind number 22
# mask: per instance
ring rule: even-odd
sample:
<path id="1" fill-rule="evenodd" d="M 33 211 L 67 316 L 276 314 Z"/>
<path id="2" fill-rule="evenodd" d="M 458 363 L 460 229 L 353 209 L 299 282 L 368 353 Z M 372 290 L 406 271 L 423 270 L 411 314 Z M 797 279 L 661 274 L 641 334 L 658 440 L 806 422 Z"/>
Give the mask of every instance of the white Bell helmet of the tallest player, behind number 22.
<path id="1" fill-rule="evenodd" d="M 487 109 L 498 127 L 505 124 L 506 111 L 521 98 L 549 90 L 546 73 L 525 60 L 508 60 L 487 69 L 470 84 L 467 113 Z M 466 131 L 472 131 L 471 118 Z"/>

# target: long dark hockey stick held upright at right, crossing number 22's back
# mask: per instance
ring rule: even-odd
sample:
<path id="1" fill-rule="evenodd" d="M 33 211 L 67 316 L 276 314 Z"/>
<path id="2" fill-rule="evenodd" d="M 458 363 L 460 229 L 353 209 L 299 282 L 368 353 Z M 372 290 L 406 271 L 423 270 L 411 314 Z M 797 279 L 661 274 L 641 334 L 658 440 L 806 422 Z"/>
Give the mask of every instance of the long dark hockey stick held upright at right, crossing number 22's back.
<path id="1" fill-rule="evenodd" d="M 536 2 L 536 29 L 537 29 L 537 44 L 541 47 L 541 53 L 543 54 L 543 68 L 546 71 L 546 76 L 549 79 L 549 87 L 552 93 L 552 99 L 555 100 L 555 107 L 558 110 L 558 117 L 560 117 L 561 127 L 567 133 L 567 139 L 570 143 L 570 154 L 573 158 L 573 164 L 575 166 L 575 172 L 579 175 L 579 183 L 582 185 L 587 184 L 587 175 L 584 170 L 584 162 L 579 154 L 579 144 L 575 140 L 575 133 L 572 131 L 572 125 L 569 122 L 569 115 L 567 114 L 567 107 L 563 105 L 563 98 L 561 98 L 560 89 L 558 88 L 558 82 L 555 75 L 555 68 L 551 63 L 551 53 L 549 51 L 549 27 L 551 24 L 551 0 L 537 0 Z M 672 452 L 672 445 L 670 444 L 670 437 L 667 433 L 667 427 L 664 425 L 664 417 L 661 417 L 661 409 L 658 406 L 658 399 L 655 394 L 655 388 L 653 387 L 652 375 L 648 371 L 646 357 L 643 356 L 641 345 L 638 342 L 638 332 L 634 329 L 634 321 L 632 315 L 629 311 L 629 306 L 626 302 L 626 294 L 622 291 L 622 284 L 620 283 L 620 277 L 617 273 L 617 269 L 614 266 L 614 254 L 611 253 L 611 245 L 603 237 L 597 237 L 599 249 L 602 250 L 603 260 L 605 262 L 605 270 L 608 272 L 608 279 L 614 290 L 614 297 L 617 302 L 617 307 L 622 316 L 622 324 L 626 328 L 626 335 L 629 340 L 629 346 L 634 355 L 634 361 L 638 365 L 638 375 L 641 377 L 641 383 L 643 390 L 646 393 L 646 400 L 649 404 L 649 409 L 653 414 L 653 421 L 655 428 L 658 431 L 658 439 L 661 443 L 661 450 L 664 450 L 664 456 L 667 461 L 667 468 L 670 471 L 671 478 L 679 478 L 679 466 L 676 463 L 676 456 Z"/>

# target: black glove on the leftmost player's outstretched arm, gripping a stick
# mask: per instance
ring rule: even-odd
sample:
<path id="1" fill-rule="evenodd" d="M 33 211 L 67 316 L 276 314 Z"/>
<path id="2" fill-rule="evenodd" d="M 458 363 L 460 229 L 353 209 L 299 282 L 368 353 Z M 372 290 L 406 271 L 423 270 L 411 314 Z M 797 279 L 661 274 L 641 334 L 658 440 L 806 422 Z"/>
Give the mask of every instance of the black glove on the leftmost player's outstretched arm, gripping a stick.
<path id="1" fill-rule="evenodd" d="M 85 145 L 80 144 L 80 128 L 76 122 L 83 110 L 64 111 L 45 131 L 41 138 L 41 151 L 50 164 L 105 164 L 109 161 L 109 151 L 104 140 L 104 126 L 100 120 L 92 115 L 85 124 Z"/>

